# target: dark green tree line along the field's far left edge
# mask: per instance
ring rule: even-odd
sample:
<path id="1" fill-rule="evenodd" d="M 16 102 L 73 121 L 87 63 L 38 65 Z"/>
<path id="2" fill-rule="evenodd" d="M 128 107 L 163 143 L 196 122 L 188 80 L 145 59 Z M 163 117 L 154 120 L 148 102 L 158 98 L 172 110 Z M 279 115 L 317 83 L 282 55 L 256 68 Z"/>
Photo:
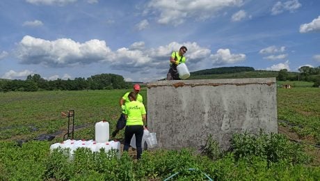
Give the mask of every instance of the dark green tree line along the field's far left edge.
<path id="1" fill-rule="evenodd" d="M 1 80 L 0 91 L 81 91 L 131 88 L 132 84 L 118 74 L 96 74 L 87 79 L 78 77 L 74 80 L 46 80 L 40 74 L 28 75 L 26 80 Z"/>

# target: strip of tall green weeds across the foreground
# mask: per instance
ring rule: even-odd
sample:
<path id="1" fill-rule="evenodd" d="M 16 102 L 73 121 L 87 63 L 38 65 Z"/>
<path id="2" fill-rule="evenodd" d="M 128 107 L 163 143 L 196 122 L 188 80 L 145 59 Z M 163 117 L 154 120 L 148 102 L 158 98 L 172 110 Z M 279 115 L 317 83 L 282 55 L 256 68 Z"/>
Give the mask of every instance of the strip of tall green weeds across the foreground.
<path id="1" fill-rule="evenodd" d="M 127 152 L 119 159 L 113 152 L 80 148 L 70 159 L 66 150 L 50 153 L 49 142 L 19 147 L 2 141 L 0 180 L 163 180 L 175 173 L 174 180 L 320 180 L 320 167 L 305 166 L 310 157 L 284 136 L 235 134 L 231 148 L 222 152 L 208 139 L 200 155 L 186 149 L 154 150 L 136 161 Z"/>

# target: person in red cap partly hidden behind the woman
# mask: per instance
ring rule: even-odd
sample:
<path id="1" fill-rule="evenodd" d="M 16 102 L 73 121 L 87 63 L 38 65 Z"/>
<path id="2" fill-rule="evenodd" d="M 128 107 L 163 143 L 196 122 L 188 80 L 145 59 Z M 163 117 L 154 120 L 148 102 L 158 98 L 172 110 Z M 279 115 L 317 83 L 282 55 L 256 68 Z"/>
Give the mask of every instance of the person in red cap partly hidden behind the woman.
<path id="1" fill-rule="evenodd" d="M 142 95 L 139 94 L 140 91 L 140 85 L 139 84 L 134 84 L 134 93 L 136 93 L 136 100 L 138 102 L 141 102 L 143 104 L 143 97 Z M 130 92 L 125 93 L 125 95 L 123 95 L 120 98 L 119 104 L 120 107 L 122 109 L 122 113 L 120 115 L 120 118 L 118 119 L 117 125 L 115 127 L 115 130 L 112 132 L 112 137 L 115 137 L 115 135 L 118 134 L 118 132 L 120 131 L 120 129 L 123 129 L 125 127 L 125 122 L 126 122 L 126 118 L 125 118 L 125 104 L 129 103 L 129 95 Z"/>

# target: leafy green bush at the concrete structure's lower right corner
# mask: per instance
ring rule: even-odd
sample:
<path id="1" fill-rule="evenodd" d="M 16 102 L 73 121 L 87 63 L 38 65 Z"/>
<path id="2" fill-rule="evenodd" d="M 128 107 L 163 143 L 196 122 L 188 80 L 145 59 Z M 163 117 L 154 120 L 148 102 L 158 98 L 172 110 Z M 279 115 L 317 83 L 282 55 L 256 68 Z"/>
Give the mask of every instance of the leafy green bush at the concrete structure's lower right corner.
<path id="1" fill-rule="evenodd" d="M 289 162 L 291 164 L 307 164 L 310 157 L 303 151 L 303 145 L 291 143 L 285 135 L 266 134 L 259 135 L 234 134 L 231 141 L 231 149 L 236 160 L 242 157 L 258 156 L 270 162 Z"/>

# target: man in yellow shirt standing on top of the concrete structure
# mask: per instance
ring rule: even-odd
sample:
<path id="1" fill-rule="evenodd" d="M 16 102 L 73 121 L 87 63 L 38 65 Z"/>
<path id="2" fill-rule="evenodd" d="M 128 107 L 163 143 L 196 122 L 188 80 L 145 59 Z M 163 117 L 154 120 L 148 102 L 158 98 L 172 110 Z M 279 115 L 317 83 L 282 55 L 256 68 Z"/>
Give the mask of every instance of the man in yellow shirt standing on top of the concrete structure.
<path id="1" fill-rule="evenodd" d="M 177 71 L 177 65 L 180 63 L 186 62 L 186 57 L 184 54 L 186 54 L 186 47 L 182 46 L 179 49 L 179 52 L 173 52 L 170 56 L 170 68 L 167 74 L 167 80 L 179 80 L 179 73 Z"/>

